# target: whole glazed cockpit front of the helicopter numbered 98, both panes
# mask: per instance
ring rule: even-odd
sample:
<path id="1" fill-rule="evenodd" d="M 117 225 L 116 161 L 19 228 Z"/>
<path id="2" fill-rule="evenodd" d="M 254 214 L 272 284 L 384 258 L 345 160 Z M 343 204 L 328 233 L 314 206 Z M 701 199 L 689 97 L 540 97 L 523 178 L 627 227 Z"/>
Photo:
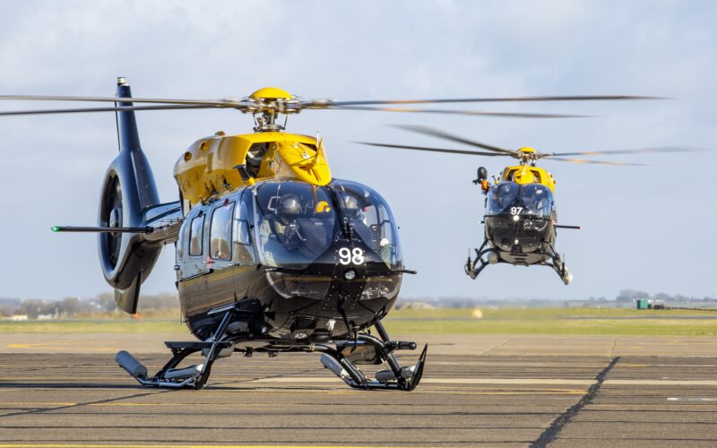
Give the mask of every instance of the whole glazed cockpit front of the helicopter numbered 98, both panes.
<path id="1" fill-rule="evenodd" d="M 265 266 L 382 263 L 393 270 L 402 263 L 391 211 L 365 185 L 266 182 L 255 187 L 254 199 L 256 252 Z"/>

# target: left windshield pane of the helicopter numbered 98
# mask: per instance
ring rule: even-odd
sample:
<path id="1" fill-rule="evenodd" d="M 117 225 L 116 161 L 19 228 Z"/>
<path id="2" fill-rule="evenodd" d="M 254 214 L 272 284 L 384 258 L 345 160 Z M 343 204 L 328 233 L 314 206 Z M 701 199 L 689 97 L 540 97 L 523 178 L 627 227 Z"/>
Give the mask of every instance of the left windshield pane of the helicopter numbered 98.
<path id="1" fill-rule="evenodd" d="M 271 182 L 255 189 L 255 240 L 261 263 L 301 269 L 332 246 L 341 231 L 324 187 Z"/>

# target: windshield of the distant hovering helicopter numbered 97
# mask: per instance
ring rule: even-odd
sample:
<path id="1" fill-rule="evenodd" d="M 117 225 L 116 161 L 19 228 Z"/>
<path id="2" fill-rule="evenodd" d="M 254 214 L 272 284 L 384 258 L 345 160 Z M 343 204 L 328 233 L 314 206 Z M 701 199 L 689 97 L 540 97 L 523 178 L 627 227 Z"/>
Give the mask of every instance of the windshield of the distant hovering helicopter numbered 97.
<path id="1" fill-rule="evenodd" d="M 531 215 L 549 218 L 553 211 L 553 194 L 546 185 L 518 185 L 501 182 L 488 191 L 488 215 Z"/>

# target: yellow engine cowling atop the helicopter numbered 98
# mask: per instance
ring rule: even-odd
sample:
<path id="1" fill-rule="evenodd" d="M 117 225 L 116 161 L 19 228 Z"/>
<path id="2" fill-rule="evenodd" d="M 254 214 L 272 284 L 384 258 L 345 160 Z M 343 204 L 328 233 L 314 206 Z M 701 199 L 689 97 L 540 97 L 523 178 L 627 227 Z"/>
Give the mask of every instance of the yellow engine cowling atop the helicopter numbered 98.
<path id="1" fill-rule="evenodd" d="M 246 181 L 238 165 L 246 167 Z M 190 207 L 216 192 L 261 179 L 293 178 L 314 185 L 332 180 L 321 143 L 307 135 L 284 133 L 217 133 L 197 140 L 177 160 L 174 177 Z"/>

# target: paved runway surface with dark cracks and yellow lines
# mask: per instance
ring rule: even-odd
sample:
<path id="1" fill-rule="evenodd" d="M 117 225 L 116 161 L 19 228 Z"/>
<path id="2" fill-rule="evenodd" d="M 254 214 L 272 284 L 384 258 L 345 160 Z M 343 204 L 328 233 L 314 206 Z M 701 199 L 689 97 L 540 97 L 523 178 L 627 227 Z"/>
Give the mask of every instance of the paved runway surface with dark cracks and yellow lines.
<path id="1" fill-rule="evenodd" d="M 0 335 L 0 448 L 717 444 L 711 338 L 424 335 L 416 391 L 364 392 L 311 354 L 235 355 L 203 391 L 145 389 L 108 351 L 155 370 L 156 335 L 75 336 Z"/>

